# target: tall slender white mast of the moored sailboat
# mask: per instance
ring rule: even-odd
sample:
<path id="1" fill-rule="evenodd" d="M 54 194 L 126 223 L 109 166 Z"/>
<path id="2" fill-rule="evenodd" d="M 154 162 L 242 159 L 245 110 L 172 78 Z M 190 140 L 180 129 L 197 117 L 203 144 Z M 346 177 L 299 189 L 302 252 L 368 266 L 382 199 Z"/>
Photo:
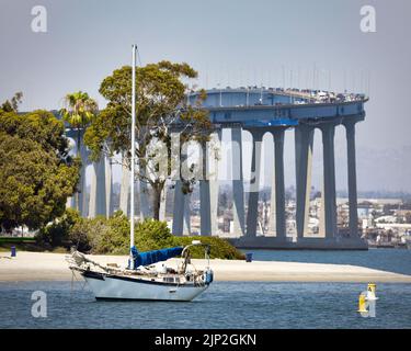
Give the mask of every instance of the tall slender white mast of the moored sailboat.
<path id="1" fill-rule="evenodd" d="M 135 154 L 136 154 L 136 52 L 137 45 L 133 45 L 133 65 L 132 65 L 132 170 L 130 170 L 130 248 L 134 247 L 134 173 L 135 173 Z M 133 260 L 133 253 L 130 252 Z"/>

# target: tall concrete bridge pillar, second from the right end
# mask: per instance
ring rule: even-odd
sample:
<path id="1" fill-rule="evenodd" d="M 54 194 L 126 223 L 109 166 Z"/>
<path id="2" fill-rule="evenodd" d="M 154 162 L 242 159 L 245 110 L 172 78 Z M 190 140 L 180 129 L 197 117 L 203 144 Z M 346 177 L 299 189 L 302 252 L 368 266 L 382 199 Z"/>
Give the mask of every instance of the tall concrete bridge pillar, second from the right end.
<path id="1" fill-rule="evenodd" d="M 336 228 L 336 195 L 335 195 L 335 160 L 334 134 L 335 126 L 328 124 L 321 126 L 323 148 L 323 202 L 326 238 L 334 238 Z"/>

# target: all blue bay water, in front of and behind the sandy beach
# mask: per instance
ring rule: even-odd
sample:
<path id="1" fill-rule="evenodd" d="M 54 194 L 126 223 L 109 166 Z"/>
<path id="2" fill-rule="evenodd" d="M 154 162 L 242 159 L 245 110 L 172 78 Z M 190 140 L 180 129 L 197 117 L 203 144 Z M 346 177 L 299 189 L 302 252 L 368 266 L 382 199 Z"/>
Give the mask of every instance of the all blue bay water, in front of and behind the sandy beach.
<path id="1" fill-rule="evenodd" d="M 343 263 L 411 274 L 411 251 L 258 251 L 255 260 Z M 411 328 L 411 284 L 378 284 L 377 317 L 362 318 L 366 284 L 215 282 L 192 303 L 95 302 L 83 283 L 0 283 L 1 328 Z M 31 295 L 47 294 L 47 318 Z"/>

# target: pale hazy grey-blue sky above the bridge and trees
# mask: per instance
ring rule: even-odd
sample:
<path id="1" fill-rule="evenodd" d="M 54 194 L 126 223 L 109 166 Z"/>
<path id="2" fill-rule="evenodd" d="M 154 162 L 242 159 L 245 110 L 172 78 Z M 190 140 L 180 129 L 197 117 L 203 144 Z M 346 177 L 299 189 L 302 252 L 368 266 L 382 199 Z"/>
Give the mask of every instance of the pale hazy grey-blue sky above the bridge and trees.
<path id="1" fill-rule="evenodd" d="M 365 4 L 377 11 L 377 33 L 359 30 Z M 47 9 L 47 33 L 31 29 L 34 5 Z M 286 86 L 312 88 L 316 66 L 315 88 L 369 92 L 357 128 L 358 188 L 411 191 L 410 15 L 409 0 L 0 0 L 0 101 L 23 91 L 21 110 L 58 109 L 81 89 L 104 106 L 100 82 L 130 63 L 133 43 L 142 64 L 190 63 L 205 88 L 283 86 L 283 67 Z M 339 131 L 338 156 L 344 147 Z M 320 168 L 313 172 L 318 183 Z M 339 163 L 338 188 L 345 182 Z"/>

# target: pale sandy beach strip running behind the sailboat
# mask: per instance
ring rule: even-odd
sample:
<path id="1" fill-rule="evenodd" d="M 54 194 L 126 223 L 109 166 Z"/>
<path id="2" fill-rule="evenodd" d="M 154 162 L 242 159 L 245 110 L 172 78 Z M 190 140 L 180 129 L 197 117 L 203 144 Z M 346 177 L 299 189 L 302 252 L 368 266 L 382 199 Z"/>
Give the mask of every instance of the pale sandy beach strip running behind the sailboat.
<path id="1" fill-rule="evenodd" d="M 0 253 L 0 283 L 20 281 L 69 281 L 72 278 L 62 253 L 18 252 L 15 258 Z M 99 263 L 124 265 L 124 256 L 90 256 Z M 168 261 L 176 267 L 179 260 Z M 193 260 L 197 269 L 205 260 Z M 295 263 L 276 261 L 212 260 L 216 281 L 259 282 L 352 282 L 352 283 L 411 283 L 411 275 L 378 271 L 347 264 Z"/>

